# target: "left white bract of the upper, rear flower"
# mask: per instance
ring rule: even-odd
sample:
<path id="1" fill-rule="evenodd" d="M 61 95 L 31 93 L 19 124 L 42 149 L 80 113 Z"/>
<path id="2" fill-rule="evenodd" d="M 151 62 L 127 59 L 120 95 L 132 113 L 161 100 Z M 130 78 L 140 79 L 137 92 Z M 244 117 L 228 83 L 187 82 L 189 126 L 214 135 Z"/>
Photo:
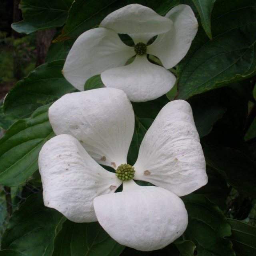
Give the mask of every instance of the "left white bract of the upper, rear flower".
<path id="1" fill-rule="evenodd" d="M 134 55 L 134 49 L 124 44 L 113 30 L 94 28 L 81 34 L 74 42 L 62 72 L 68 82 L 83 91 L 90 77 L 124 66 Z"/>

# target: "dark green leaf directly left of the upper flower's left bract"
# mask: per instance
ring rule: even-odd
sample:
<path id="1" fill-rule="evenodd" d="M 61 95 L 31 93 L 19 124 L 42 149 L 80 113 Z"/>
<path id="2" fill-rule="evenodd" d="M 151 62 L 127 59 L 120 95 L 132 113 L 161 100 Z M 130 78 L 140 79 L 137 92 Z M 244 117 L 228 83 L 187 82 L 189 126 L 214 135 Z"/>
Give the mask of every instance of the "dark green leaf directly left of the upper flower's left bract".
<path id="1" fill-rule="evenodd" d="M 4 100 L 4 112 L 10 116 L 30 116 L 40 106 L 52 103 L 76 89 L 61 73 L 64 60 L 46 63 L 19 81 Z"/>

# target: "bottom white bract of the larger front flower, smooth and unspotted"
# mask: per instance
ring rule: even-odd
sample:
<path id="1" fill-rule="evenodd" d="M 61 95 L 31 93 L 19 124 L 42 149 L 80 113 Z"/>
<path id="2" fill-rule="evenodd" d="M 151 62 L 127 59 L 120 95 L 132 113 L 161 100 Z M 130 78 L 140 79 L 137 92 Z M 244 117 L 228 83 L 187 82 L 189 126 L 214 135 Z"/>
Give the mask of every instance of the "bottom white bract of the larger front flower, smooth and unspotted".
<path id="1" fill-rule="evenodd" d="M 118 243 L 136 250 L 164 248 L 182 235 L 188 215 L 174 193 L 154 186 L 123 183 L 122 192 L 98 196 L 94 209 L 100 225 Z"/>

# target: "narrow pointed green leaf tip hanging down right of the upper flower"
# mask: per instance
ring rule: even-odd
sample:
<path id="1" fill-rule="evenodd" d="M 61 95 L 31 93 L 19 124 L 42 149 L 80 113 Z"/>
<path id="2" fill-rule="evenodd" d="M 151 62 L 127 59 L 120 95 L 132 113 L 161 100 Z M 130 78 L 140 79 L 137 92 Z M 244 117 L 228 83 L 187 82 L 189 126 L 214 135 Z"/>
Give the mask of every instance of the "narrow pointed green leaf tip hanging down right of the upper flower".
<path id="1" fill-rule="evenodd" d="M 211 13 L 212 13 L 214 2 L 216 0 L 192 0 L 192 1 L 200 14 L 201 23 L 207 36 L 210 39 L 212 39 Z"/>

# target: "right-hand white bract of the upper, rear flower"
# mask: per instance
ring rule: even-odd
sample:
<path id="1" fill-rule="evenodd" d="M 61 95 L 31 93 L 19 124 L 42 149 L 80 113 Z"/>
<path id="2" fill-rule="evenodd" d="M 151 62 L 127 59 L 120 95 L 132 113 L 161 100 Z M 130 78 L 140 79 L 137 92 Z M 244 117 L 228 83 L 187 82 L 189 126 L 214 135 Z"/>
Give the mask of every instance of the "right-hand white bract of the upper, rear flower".
<path id="1" fill-rule="evenodd" d="M 157 56 L 164 67 L 169 69 L 187 54 L 196 36 L 198 23 L 190 6 L 185 4 L 172 8 L 166 17 L 172 20 L 172 28 L 167 33 L 160 34 L 148 46 L 148 53 Z"/>

